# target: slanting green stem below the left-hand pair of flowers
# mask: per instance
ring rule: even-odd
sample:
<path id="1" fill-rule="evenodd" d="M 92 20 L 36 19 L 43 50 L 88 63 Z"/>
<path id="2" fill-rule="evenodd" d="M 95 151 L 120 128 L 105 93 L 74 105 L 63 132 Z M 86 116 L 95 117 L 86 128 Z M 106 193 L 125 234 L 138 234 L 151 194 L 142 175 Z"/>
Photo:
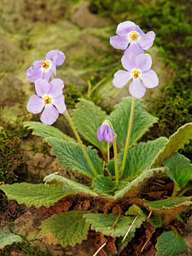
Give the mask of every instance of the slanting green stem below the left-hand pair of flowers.
<path id="1" fill-rule="evenodd" d="M 70 124 L 71 127 L 72 127 L 72 130 L 73 130 L 73 132 L 74 132 L 74 135 L 75 135 L 75 137 L 77 138 L 77 140 L 78 140 L 78 142 L 79 142 L 79 145 L 80 145 L 80 147 L 81 147 L 81 149 L 82 149 L 82 151 L 83 151 L 83 153 L 84 153 L 84 157 L 86 158 L 86 160 L 87 160 L 87 162 L 88 162 L 88 164 L 89 164 L 89 166 L 90 166 L 91 171 L 93 172 L 94 176 L 97 177 L 96 169 L 95 169 L 95 167 L 93 166 L 93 164 L 92 164 L 92 162 L 91 162 L 91 160 L 90 160 L 89 155 L 87 154 L 86 150 L 84 149 L 84 144 L 82 143 L 82 141 L 81 141 L 81 139 L 80 139 L 80 137 L 79 137 L 79 133 L 78 133 L 78 131 L 76 130 L 74 124 L 73 124 L 72 118 L 70 117 L 70 115 L 69 115 L 69 113 L 67 112 L 67 110 L 66 110 L 63 114 L 66 116 L 67 120 L 69 121 L 69 124 Z"/>

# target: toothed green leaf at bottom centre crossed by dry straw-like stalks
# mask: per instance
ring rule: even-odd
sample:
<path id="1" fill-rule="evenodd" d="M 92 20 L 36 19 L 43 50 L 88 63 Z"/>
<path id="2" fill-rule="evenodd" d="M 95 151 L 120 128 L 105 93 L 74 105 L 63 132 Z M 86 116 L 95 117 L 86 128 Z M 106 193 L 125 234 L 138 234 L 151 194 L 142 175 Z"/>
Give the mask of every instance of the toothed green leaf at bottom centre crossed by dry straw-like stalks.
<path id="1" fill-rule="evenodd" d="M 96 232 L 102 232 L 107 236 L 125 236 L 127 230 L 130 228 L 131 223 L 135 217 L 125 217 L 121 216 L 117 222 L 116 227 L 113 227 L 113 223 L 117 219 L 117 215 L 113 214 L 102 214 L 102 213 L 89 213 L 85 214 L 86 222 L 91 224 L 91 227 L 96 230 Z M 132 225 L 130 233 L 128 236 L 133 237 L 137 228 L 140 228 L 143 224 L 145 218 L 138 217 L 135 223 Z"/>

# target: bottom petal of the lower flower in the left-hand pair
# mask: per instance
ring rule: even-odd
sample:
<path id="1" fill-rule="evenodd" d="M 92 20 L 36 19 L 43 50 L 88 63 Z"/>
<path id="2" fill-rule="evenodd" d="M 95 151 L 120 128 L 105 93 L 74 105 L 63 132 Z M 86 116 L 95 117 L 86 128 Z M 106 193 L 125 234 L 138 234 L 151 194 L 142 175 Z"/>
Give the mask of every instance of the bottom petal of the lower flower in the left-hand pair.
<path id="1" fill-rule="evenodd" d="M 41 114 L 41 121 L 44 125 L 52 125 L 58 117 L 58 110 L 52 104 L 45 105 L 44 111 Z"/>

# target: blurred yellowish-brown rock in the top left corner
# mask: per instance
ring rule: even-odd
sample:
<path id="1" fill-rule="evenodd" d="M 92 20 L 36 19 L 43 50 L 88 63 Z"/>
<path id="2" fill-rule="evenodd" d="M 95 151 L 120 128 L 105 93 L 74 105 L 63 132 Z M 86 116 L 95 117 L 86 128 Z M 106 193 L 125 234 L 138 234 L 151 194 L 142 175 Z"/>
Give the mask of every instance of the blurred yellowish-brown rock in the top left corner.
<path id="1" fill-rule="evenodd" d="M 37 21 L 49 24 L 62 18 L 70 6 L 69 0 L 3 0 L 0 2 L 1 24 L 9 32 L 26 33 Z"/>

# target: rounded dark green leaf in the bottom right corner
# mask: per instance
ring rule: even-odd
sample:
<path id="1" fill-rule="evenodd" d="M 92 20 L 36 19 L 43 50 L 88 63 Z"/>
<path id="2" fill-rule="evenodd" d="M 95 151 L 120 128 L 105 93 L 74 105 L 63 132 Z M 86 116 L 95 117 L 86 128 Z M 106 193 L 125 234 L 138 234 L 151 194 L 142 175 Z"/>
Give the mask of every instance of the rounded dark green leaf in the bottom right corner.
<path id="1" fill-rule="evenodd" d="M 188 253 L 185 241 L 175 231 L 165 232 L 160 235 L 155 247 L 157 249 L 155 256 L 175 256 Z"/>

